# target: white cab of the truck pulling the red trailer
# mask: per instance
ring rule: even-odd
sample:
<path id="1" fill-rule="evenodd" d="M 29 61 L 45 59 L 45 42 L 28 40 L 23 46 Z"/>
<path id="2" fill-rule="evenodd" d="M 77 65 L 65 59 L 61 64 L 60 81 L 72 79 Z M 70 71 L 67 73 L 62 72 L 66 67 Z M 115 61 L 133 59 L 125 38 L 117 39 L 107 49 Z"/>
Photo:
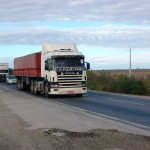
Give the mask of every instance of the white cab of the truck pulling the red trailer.
<path id="1" fill-rule="evenodd" d="M 41 76 L 46 81 L 47 94 L 82 96 L 87 92 L 86 70 L 89 68 L 75 44 L 43 44 Z"/>

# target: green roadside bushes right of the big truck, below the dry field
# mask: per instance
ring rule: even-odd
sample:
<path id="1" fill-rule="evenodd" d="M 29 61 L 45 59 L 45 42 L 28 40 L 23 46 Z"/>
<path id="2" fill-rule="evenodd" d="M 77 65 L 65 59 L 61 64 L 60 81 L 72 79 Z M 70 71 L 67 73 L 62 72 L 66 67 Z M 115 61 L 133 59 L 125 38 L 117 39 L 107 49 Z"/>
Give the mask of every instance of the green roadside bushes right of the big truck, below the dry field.
<path id="1" fill-rule="evenodd" d="M 87 71 L 88 89 L 126 93 L 135 95 L 147 95 L 150 87 L 149 81 L 129 78 L 125 75 L 108 76 L 106 74 L 96 75 L 91 70 Z"/>

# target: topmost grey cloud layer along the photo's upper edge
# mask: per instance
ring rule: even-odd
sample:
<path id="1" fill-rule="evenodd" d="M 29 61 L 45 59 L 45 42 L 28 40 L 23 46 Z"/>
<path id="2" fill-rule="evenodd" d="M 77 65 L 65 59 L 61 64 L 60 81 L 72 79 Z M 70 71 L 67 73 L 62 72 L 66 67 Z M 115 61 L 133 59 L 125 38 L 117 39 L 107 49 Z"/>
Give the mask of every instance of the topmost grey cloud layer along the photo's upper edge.
<path id="1" fill-rule="evenodd" d="M 149 23 L 149 0 L 0 0 L 0 21 L 98 20 Z"/>

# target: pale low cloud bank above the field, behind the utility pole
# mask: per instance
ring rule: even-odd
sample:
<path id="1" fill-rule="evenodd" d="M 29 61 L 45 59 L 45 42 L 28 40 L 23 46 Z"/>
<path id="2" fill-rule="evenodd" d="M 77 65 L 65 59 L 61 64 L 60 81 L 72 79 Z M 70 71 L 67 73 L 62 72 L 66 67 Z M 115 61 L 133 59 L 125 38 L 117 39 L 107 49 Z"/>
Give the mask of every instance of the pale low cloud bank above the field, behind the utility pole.
<path id="1" fill-rule="evenodd" d="M 149 69 L 150 66 L 149 55 L 150 52 L 133 54 L 131 68 Z M 116 56 L 101 55 L 101 56 L 87 57 L 87 61 L 91 63 L 92 66 L 91 69 L 96 69 L 96 70 L 129 69 L 129 55 L 116 55 Z"/>

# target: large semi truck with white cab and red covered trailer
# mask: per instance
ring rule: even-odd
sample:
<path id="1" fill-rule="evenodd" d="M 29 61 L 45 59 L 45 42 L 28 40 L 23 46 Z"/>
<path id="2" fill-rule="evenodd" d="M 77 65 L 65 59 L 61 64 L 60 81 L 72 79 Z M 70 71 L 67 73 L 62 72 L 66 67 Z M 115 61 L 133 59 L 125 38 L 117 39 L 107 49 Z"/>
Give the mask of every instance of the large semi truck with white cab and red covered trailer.
<path id="1" fill-rule="evenodd" d="M 86 70 L 90 64 L 78 52 L 76 44 L 42 45 L 42 51 L 14 59 L 14 75 L 19 90 L 49 95 L 87 92 Z"/>

